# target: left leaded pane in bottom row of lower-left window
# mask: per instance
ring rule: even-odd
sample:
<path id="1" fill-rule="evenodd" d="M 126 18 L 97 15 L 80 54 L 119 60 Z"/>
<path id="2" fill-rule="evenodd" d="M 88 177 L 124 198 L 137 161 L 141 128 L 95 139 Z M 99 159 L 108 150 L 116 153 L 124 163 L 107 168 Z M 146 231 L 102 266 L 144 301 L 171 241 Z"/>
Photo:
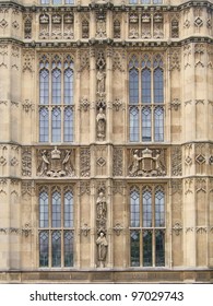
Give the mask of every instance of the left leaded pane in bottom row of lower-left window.
<path id="1" fill-rule="evenodd" d="M 39 233 L 39 267 L 48 267 L 49 237 L 47 232 Z"/>

